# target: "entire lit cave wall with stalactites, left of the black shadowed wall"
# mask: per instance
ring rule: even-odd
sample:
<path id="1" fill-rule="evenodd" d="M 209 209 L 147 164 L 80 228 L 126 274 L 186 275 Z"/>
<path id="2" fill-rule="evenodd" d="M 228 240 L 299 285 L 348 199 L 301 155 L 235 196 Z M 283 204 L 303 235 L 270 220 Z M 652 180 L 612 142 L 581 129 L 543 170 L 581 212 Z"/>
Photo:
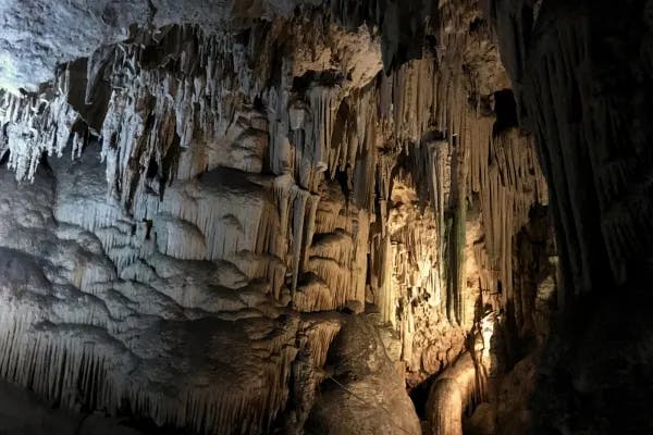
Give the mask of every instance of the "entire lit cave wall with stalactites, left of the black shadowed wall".
<path id="1" fill-rule="evenodd" d="M 24 44 L 51 26 L 61 42 L 29 46 L 5 79 L 67 63 L 0 95 L 2 377 L 63 408 L 225 434 L 354 431 L 324 410 L 417 433 L 393 371 L 416 387 L 460 356 L 473 382 L 454 408 L 498 397 L 493 380 L 545 331 L 538 264 L 553 252 L 477 1 L 190 2 L 188 16 L 149 2 L 128 33 L 122 4 L 79 44 L 60 14 L 97 13 L 69 2 L 52 22 L 30 12 L 36 33 L 21 24 L 45 3 L 5 14 Z M 342 387 L 381 399 L 362 409 Z"/>

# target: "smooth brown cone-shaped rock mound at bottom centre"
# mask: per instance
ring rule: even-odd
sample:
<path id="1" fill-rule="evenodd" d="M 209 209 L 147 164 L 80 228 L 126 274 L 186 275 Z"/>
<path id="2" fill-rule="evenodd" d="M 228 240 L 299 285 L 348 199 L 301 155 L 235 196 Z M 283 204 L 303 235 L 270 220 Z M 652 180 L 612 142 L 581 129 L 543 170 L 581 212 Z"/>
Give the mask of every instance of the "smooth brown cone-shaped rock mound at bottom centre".
<path id="1" fill-rule="evenodd" d="M 335 337 L 330 370 L 306 424 L 309 434 L 421 434 L 404 380 L 374 326 L 352 316 Z"/>

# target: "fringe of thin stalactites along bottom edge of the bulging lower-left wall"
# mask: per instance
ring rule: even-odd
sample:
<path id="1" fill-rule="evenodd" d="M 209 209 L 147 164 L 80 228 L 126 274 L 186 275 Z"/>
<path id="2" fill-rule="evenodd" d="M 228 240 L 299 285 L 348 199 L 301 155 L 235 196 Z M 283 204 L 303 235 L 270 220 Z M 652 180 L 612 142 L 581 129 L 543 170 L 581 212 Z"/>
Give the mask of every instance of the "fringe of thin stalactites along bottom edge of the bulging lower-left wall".
<path id="1" fill-rule="evenodd" d="M 1 314 L 0 376 L 63 407 L 84 402 L 115 414 L 128 403 L 132 412 L 161 425 L 226 434 L 266 431 L 287 400 L 286 385 L 297 351 L 287 346 L 292 331 L 266 343 L 257 341 L 258 351 L 269 352 L 271 360 L 261 365 L 257 378 L 249 378 L 252 388 L 221 390 L 168 385 L 178 393 L 171 396 L 150 378 L 148 361 L 140 359 L 139 353 L 146 349 L 125 347 L 108 333 L 108 325 L 91 319 L 91 314 L 87 319 L 67 319 L 71 323 L 61 325 L 44 321 L 39 316 L 42 313 L 35 310 L 9 304 Z M 332 336 L 329 331 L 309 343 L 317 358 L 323 358 Z M 143 373 L 140 377 L 130 377 L 131 371 Z"/>

